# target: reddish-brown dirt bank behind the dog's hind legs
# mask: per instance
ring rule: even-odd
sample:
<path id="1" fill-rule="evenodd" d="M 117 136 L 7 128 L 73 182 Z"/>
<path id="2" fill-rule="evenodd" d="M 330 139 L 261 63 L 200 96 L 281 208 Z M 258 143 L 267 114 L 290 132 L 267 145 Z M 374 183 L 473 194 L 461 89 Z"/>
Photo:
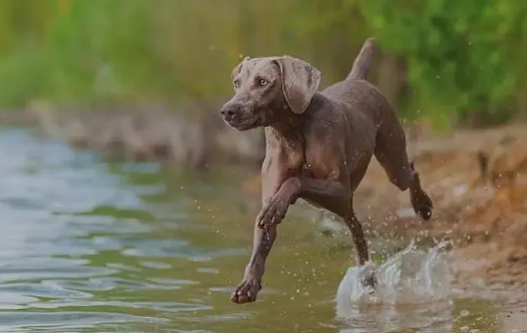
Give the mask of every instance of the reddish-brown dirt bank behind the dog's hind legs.
<path id="1" fill-rule="evenodd" d="M 410 235 L 452 239 L 458 279 L 527 283 L 527 127 L 459 131 L 410 142 L 409 151 L 434 198 L 433 221 L 412 216 L 407 194 L 394 191 L 379 165 L 359 189 L 357 204 L 372 207 L 363 212 L 408 225 Z"/>

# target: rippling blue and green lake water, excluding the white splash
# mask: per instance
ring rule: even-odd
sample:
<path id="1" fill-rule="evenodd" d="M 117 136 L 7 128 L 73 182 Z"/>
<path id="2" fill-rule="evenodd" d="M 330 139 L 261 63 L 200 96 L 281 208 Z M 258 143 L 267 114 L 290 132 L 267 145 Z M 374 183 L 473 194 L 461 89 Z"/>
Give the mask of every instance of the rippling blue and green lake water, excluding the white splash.
<path id="1" fill-rule="evenodd" d="M 247 171 L 103 162 L 20 129 L 0 129 L 0 156 L 0 332 L 500 332 L 502 303 L 462 295 L 337 316 L 350 239 L 298 207 L 258 301 L 230 303 L 258 213 Z"/>

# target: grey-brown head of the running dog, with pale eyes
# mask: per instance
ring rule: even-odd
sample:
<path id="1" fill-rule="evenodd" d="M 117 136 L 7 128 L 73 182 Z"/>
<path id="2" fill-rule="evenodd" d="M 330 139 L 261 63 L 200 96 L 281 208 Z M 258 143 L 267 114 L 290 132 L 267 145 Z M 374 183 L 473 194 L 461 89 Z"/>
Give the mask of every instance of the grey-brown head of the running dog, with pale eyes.
<path id="1" fill-rule="evenodd" d="M 234 96 L 221 108 L 227 124 L 245 131 L 306 111 L 320 72 L 290 56 L 245 58 L 232 71 Z"/>

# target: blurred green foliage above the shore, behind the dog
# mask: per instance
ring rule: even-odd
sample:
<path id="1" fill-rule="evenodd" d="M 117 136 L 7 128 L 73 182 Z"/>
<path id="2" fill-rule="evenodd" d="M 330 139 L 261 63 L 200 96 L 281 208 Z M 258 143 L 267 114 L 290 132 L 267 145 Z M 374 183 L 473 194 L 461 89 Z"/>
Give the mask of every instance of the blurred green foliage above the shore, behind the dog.
<path id="1" fill-rule="evenodd" d="M 243 55 L 304 58 L 328 85 L 374 36 L 403 64 L 400 114 L 500 122 L 527 105 L 526 17 L 525 0 L 1 0 L 0 106 L 221 100 Z"/>

